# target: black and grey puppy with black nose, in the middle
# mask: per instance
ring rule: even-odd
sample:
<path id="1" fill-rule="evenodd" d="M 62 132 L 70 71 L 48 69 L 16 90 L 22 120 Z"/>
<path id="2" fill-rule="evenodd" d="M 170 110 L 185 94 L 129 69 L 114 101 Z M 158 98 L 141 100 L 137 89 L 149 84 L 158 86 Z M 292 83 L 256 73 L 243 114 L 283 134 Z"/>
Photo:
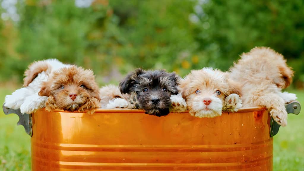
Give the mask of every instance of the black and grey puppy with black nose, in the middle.
<path id="1" fill-rule="evenodd" d="M 170 112 L 170 96 L 178 94 L 178 79 L 175 72 L 138 68 L 119 83 L 119 89 L 124 94 L 135 93 L 140 109 L 160 117 Z"/>

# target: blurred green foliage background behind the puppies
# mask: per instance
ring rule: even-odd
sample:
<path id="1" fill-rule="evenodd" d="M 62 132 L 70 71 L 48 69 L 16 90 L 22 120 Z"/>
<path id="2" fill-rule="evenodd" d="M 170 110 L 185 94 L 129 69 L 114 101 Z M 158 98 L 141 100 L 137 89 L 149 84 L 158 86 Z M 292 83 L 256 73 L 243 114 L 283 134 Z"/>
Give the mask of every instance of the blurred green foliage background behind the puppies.
<path id="1" fill-rule="evenodd" d="M 0 76 L 21 82 L 31 62 L 57 58 L 92 68 L 101 84 L 136 67 L 181 76 L 226 71 L 268 46 L 304 84 L 304 2 L 219 0 L 0 0 Z"/>

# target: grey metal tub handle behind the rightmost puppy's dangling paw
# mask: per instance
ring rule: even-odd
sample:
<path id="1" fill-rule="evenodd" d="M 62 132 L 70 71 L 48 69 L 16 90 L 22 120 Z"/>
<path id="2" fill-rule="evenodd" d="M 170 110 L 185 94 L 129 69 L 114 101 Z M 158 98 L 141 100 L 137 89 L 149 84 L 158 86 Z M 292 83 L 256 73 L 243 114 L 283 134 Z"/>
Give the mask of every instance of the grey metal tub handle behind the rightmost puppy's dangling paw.
<path id="1" fill-rule="evenodd" d="M 287 113 L 293 113 L 298 115 L 301 111 L 301 105 L 298 101 L 291 101 L 288 104 L 285 104 L 285 108 Z M 271 117 L 270 120 L 270 137 L 275 136 L 278 134 L 279 128 L 281 125 L 275 122 L 275 120 Z"/>

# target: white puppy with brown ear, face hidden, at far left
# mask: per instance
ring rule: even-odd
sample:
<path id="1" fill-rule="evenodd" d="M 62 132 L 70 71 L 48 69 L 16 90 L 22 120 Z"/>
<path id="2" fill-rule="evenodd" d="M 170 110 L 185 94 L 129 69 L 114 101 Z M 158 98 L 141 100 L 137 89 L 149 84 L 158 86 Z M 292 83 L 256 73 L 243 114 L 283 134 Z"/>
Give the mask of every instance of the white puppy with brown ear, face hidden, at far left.
<path id="1" fill-rule="evenodd" d="M 57 69 L 70 65 L 63 64 L 57 59 L 35 61 L 25 71 L 23 88 L 17 89 L 12 95 L 5 96 L 4 106 L 21 113 L 33 113 L 37 109 L 45 107 L 47 96 L 38 96 L 41 84 L 47 81 L 48 76 Z"/>

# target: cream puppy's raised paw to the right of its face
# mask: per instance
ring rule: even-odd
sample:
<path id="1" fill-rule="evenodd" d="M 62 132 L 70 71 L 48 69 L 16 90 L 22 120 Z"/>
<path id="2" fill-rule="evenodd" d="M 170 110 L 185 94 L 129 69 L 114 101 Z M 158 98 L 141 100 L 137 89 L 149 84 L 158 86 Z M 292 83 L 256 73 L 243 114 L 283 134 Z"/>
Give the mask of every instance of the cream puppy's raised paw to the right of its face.
<path id="1" fill-rule="evenodd" d="M 242 107 L 242 100 L 238 94 L 230 94 L 225 99 L 225 104 L 223 105 L 224 111 L 236 112 Z"/>

